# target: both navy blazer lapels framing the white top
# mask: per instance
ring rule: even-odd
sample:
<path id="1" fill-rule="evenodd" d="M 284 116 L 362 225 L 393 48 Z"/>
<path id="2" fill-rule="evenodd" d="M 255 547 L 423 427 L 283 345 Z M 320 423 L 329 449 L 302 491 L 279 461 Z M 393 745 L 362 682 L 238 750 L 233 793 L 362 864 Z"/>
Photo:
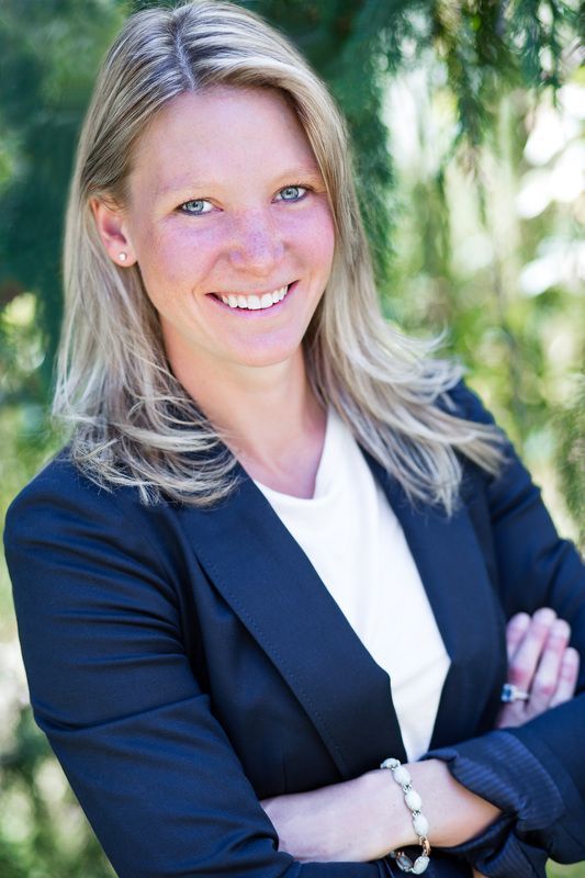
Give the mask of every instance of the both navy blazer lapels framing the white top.
<path id="1" fill-rule="evenodd" d="M 454 743 L 475 708 L 473 698 L 464 698 L 453 712 L 454 696 L 471 694 L 475 675 L 482 677 L 472 658 L 491 609 L 472 528 L 465 515 L 446 519 L 414 509 L 396 482 L 363 454 L 401 521 L 451 657 L 431 745 Z M 406 761 L 389 675 L 239 463 L 237 475 L 239 484 L 226 502 L 211 509 L 182 507 L 199 562 L 278 667 L 344 779 L 378 767 L 389 755 Z M 472 587 L 473 600 L 466 600 Z"/>

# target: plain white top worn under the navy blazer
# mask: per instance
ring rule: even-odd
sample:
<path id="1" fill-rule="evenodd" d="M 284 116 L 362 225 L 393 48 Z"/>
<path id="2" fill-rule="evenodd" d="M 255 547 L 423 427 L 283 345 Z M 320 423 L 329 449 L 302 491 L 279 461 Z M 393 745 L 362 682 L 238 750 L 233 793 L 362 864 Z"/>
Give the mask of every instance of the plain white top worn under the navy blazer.
<path id="1" fill-rule="evenodd" d="M 329 408 L 311 499 L 255 482 L 390 675 L 406 753 L 417 759 L 450 660 L 403 530 L 350 430 Z"/>

